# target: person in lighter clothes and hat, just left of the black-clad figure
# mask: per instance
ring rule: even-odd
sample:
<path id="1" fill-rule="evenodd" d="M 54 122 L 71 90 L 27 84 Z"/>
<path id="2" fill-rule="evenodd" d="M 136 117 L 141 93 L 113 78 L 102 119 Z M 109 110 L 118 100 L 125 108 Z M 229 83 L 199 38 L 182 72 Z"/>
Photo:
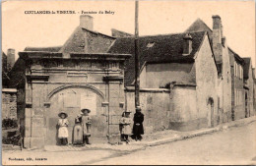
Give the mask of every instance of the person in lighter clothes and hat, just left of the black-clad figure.
<path id="1" fill-rule="evenodd" d="M 121 140 L 129 142 L 129 136 L 131 135 L 131 124 L 132 119 L 130 118 L 131 111 L 124 111 L 122 114 L 122 118 L 120 119 L 120 132 L 121 132 Z"/>

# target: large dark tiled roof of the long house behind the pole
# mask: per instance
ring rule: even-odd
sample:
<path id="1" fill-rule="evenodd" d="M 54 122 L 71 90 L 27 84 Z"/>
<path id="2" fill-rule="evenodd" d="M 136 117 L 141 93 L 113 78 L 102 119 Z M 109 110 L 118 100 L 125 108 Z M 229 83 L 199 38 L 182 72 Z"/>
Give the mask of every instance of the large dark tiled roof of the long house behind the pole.
<path id="1" fill-rule="evenodd" d="M 139 38 L 140 68 L 145 62 L 193 62 L 194 55 L 201 45 L 206 31 L 191 32 L 192 52 L 188 56 L 182 56 L 184 33 L 141 36 Z M 134 81 L 134 37 L 117 38 L 108 50 L 108 53 L 132 54 L 132 57 L 125 61 L 125 85 Z"/>

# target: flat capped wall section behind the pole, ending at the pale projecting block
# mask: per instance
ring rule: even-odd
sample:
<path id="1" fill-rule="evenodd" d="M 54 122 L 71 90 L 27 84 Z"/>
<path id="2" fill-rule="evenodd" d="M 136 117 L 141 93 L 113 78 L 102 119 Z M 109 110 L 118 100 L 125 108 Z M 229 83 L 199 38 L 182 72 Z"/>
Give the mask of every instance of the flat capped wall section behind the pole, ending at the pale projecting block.
<path id="1" fill-rule="evenodd" d="M 131 111 L 131 118 L 135 113 L 134 89 L 126 89 L 126 109 Z M 169 129 L 171 118 L 169 89 L 141 89 L 140 103 L 142 113 L 145 115 L 145 133 L 153 133 Z"/>

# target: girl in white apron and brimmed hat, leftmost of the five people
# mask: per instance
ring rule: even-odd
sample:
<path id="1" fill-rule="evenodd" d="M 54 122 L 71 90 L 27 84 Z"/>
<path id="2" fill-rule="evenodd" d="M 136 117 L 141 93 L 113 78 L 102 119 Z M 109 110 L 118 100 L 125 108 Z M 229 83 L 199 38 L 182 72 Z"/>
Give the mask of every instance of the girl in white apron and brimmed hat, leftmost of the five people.
<path id="1" fill-rule="evenodd" d="M 60 139 L 60 144 L 61 145 L 67 145 L 68 144 L 68 137 L 69 137 L 69 132 L 68 132 L 68 125 L 69 121 L 67 119 L 68 114 L 65 112 L 60 112 L 58 114 L 60 117 L 58 121 L 58 138 Z"/>

